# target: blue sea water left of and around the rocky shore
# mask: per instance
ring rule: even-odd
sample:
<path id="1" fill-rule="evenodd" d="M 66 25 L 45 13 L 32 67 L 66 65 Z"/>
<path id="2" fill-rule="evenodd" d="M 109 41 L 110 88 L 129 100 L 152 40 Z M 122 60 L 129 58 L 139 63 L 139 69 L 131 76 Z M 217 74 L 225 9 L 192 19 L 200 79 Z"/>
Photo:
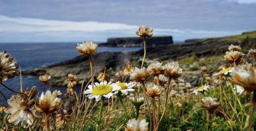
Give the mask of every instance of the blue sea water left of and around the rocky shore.
<path id="1" fill-rule="evenodd" d="M 47 66 L 61 61 L 72 59 L 79 56 L 76 51 L 76 43 L 0 43 L 0 51 L 6 50 L 11 54 L 22 70 L 34 69 L 41 66 Z M 101 51 L 137 51 L 142 47 L 98 47 L 97 52 Z M 46 88 L 38 81 L 38 77 L 30 75 L 22 75 L 23 88 L 31 89 L 36 86 L 38 94 L 45 91 Z M 5 85 L 16 91 L 20 90 L 20 77 L 8 79 L 4 82 Z M 66 92 L 66 87 L 51 87 L 51 90 L 61 90 Z M 11 95 L 15 94 L 2 85 L 0 91 L 9 99 Z M 0 103 L 6 104 L 3 97 L 0 95 Z"/>

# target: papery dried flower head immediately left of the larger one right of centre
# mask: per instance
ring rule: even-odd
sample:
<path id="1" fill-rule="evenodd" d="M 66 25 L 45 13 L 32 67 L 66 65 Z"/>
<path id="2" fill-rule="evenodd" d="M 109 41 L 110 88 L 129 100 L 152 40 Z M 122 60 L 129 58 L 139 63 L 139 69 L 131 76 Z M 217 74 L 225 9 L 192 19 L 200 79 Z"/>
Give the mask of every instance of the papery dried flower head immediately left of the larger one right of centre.
<path id="1" fill-rule="evenodd" d="M 151 63 L 148 67 L 147 67 L 147 72 L 150 75 L 160 75 L 164 73 L 164 67 L 162 66 L 162 63 L 157 62 L 157 63 Z"/>

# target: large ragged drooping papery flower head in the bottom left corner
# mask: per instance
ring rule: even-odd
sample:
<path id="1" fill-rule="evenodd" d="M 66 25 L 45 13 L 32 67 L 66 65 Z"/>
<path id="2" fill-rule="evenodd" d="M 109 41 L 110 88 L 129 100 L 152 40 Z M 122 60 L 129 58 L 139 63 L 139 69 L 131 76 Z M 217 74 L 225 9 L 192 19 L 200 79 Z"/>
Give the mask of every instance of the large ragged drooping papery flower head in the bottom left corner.
<path id="1" fill-rule="evenodd" d="M 25 94 L 13 95 L 7 102 L 9 107 L 5 109 L 5 113 L 11 114 L 8 121 L 14 125 L 21 122 L 21 125 L 27 128 L 40 117 L 40 113 L 34 107 L 35 100 L 29 99 Z"/>

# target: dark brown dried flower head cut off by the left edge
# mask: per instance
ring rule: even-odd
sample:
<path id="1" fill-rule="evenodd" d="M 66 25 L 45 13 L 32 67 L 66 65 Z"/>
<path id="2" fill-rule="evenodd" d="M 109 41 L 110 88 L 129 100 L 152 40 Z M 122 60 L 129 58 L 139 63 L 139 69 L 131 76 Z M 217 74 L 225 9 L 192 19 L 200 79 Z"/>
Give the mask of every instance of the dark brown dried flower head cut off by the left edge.
<path id="1" fill-rule="evenodd" d="M 0 52 L 0 83 L 14 77 L 17 73 L 17 61 L 10 54 L 7 54 L 6 51 Z"/>

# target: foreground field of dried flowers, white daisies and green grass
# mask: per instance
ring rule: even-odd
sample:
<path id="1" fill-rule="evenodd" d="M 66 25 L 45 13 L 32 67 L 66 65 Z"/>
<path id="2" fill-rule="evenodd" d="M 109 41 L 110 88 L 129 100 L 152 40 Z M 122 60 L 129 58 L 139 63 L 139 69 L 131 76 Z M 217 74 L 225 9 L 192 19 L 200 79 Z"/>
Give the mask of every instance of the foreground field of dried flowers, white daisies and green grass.
<path id="1" fill-rule="evenodd" d="M 16 95 L 6 98 L 0 92 L 8 102 L 8 107 L 0 108 L 0 129 L 256 130 L 255 49 L 245 55 L 241 47 L 230 45 L 223 58 L 226 65 L 200 67 L 198 80 L 201 86 L 195 88 L 182 79 L 184 72 L 176 61 L 145 65 L 146 38 L 153 36 L 153 29 L 140 26 L 136 34 L 144 40 L 141 66 L 132 67 L 128 63 L 115 76 L 94 63 L 97 44 L 93 41 L 77 44 L 78 53 L 89 58 L 91 71 L 84 74 L 82 85 L 77 84 L 75 75 L 69 74 L 67 92 L 50 91 L 51 76 L 48 74 L 39 76 L 39 81 L 46 87 L 41 94 L 37 93 L 36 87 L 30 90 L 20 87 L 19 91 L 8 87 L 4 82 L 22 76 L 22 73 L 18 60 L 2 51 L 0 84 Z M 99 68 L 105 71 L 95 76 Z M 209 70 L 213 73 L 209 74 Z"/>

